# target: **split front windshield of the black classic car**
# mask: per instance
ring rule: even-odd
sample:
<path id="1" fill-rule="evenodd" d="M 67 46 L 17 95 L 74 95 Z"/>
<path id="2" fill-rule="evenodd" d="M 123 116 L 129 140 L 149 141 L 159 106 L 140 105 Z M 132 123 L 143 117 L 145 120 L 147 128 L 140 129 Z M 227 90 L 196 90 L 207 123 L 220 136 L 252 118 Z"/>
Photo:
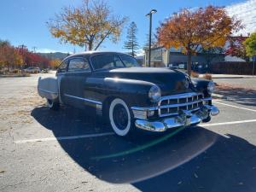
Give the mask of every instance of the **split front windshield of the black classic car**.
<path id="1" fill-rule="evenodd" d="M 138 66 L 136 59 L 129 55 L 94 55 L 90 61 L 94 70 Z"/>

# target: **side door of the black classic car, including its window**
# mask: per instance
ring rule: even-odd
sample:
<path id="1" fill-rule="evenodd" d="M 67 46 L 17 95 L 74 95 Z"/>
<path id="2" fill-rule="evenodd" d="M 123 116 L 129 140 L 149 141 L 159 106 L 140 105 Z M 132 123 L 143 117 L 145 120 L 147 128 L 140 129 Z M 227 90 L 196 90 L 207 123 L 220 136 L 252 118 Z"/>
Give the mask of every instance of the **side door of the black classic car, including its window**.
<path id="1" fill-rule="evenodd" d="M 67 73 L 61 79 L 61 95 L 65 104 L 84 108 L 86 79 L 90 77 L 90 64 L 83 56 L 72 57 L 68 61 Z"/>

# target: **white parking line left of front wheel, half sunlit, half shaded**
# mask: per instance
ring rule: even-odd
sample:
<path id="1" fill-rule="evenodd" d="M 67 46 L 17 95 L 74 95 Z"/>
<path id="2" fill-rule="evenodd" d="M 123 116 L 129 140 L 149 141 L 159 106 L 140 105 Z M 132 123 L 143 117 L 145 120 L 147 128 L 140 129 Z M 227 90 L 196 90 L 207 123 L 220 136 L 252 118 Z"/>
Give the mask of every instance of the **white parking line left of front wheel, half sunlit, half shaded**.
<path id="1" fill-rule="evenodd" d="M 38 138 L 38 139 L 26 139 L 15 141 L 15 143 L 35 143 L 35 142 L 48 142 L 48 141 L 61 141 L 68 139 L 79 139 L 79 138 L 88 138 L 88 137 L 102 137 L 102 136 L 110 136 L 113 135 L 113 132 L 104 132 L 104 133 L 96 133 L 89 135 L 81 135 L 81 136 L 67 136 L 67 137 L 46 137 L 46 138 Z"/>

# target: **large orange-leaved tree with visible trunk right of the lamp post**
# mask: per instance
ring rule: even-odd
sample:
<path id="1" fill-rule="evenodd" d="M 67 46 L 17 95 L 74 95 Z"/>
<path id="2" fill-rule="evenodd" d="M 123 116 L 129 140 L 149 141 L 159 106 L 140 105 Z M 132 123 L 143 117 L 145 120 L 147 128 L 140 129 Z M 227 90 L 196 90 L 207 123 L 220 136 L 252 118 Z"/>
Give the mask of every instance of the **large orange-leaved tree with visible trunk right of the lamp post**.
<path id="1" fill-rule="evenodd" d="M 191 56 L 200 47 L 223 47 L 231 32 L 242 28 L 241 21 L 230 18 L 223 8 L 183 9 L 160 24 L 157 29 L 159 44 L 167 49 L 182 49 L 188 55 L 188 73 L 191 74 Z"/>

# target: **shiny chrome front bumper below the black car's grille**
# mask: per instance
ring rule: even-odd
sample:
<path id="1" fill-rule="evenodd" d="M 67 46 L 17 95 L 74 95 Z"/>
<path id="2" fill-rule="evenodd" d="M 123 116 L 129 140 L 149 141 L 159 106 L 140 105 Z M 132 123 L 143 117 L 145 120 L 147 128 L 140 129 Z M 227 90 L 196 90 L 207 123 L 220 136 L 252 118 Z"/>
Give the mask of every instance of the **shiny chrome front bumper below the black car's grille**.
<path id="1" fill-rule="evenodd" d="M 213 105 L 204 105 L 195 113 L 183 110 L 182 113 L 166 118 L 149 121 L 146 119 L 137 119 L 135 125 L 137 128 L 146 131 L 162 132 L 167 129 L 177 128 L 181 126 L 197 125 L 203 119 L 207 119 L 210 115 L 215 116 L 219 113 L 218 108 Z"/>

